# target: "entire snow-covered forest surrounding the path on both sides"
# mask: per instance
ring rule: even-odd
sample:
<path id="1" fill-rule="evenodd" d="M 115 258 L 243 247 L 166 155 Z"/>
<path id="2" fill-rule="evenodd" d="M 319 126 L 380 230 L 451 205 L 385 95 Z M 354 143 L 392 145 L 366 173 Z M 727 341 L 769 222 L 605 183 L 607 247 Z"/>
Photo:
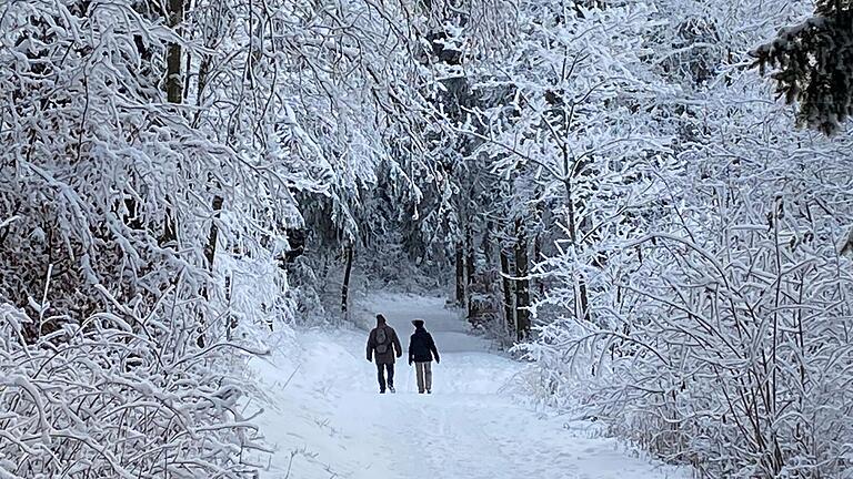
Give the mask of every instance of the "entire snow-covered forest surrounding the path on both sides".
<path id="1" fill-rule="evenodd" d="M 0 478 L 252 477 L 264 332 L 449 285 L 665 461 L 851 473 L 851 19 L 0 0 Z"/>

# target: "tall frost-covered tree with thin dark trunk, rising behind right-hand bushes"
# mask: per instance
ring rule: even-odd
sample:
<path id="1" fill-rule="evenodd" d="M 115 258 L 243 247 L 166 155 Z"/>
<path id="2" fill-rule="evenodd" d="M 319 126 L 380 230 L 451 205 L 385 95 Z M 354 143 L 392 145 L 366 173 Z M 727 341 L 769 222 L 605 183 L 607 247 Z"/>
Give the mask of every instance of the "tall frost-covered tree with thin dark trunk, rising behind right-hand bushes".
<path id="1" fill-rule="evenodd" d="M 609 252 L 630 237 L 643 195 L 654 193 L 654 172 L 666 169 L 669 139 L 653 123 L 656 103 L 670 89 L 644 60 L 653 14 L 640 2 L 521 3 L 522 33 L 512 61 L 494 65 L 479 85 L 509 92 L 506 101 L 470 112 L 470 124 L 483 125 L 483 132 L 470 131 L 482 140 L 476 154 L 514 184 L 514 220 L 508 222 L 519 246 L 514 273 L 526 276 L 524 263 L 541 259 L 525 258 L 536 227 L 550 230 L 550 240 L 563 236 L 559 255 L 568 269 L 560 271 L 568 276 L 548 295 L 561 306 L 569 300 L 571 314 L 586 320 L 594 316 L 600 279 L 610 281 L 599 278 L 605 265 L 614 265 Z M 544 210 L 555 222 L 536 226 Z M 548 274 L 550 266 L 541 266 Z M 526 296 L 522 309 L 530 306 Z M 528 329 L 521 316 L 525 324 L 519 328 Z"/>

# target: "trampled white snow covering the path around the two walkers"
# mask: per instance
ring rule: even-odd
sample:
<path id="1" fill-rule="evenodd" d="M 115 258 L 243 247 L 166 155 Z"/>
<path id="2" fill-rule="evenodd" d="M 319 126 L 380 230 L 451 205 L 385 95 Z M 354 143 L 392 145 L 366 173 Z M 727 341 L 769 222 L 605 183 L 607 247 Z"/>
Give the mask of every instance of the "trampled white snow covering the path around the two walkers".
<path id="1" fill-rule="evenodd" d="M 438 297 L 378 295 L 358 322 L 383 313 L 408 346 L 423 318 L 441 353 L 433 395 L 418 395 L 405 356 L 395 395 L 379 395 L 367 332 L 305 332 L 298 345 L 252 365 L 269 395 L 260 417 L 278 448 L 264 479 L 663 479 L 690 475 L 633 457 L 513 400 L 504 387 L 524 366 L 489 351 Z"/>

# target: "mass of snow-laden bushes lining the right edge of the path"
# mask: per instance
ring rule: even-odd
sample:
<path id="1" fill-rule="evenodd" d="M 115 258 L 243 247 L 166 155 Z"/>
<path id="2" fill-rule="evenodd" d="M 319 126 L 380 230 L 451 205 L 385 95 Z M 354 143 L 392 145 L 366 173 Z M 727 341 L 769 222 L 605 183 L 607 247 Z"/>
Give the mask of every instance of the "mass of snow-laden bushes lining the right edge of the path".
<path id="1" fill-rule="evenodd" d="M 702 477 L 853 472 L 843 203 L 805 176 L 765 185 L 749 175 L 701 187 L 695 200 L 713 210 L 612 255 L 593 320 L 565 314 L 522 346 L 543 394 Z M 572 264 L 568 254 L 550 263 L 565 286 L 550 310 L 573 310 Z"/>

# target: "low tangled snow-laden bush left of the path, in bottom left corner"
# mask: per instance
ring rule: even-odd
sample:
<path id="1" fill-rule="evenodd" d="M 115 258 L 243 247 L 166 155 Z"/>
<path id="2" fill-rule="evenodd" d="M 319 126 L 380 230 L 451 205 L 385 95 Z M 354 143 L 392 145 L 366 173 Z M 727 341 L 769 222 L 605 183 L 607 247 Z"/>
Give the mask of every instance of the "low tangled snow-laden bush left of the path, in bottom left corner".
<path id="1" fill-rule="evenodd" d="M 0 477 L 253 477 L 235 346 L 199 349 L 170 310 L 97 313 L 28 344 L 39 318 L 0 304 Z"/>

